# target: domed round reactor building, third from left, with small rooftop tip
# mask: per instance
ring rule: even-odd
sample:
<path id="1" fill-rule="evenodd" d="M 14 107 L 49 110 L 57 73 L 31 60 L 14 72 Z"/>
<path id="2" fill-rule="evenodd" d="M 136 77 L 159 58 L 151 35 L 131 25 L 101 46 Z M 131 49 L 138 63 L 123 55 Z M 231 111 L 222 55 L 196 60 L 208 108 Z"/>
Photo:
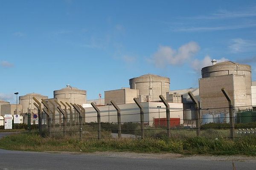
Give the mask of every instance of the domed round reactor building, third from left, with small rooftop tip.
<path id="1" fill-rule="evenodd" d="M 67 85 L 66 88 L 53 91 L 54 98 L 70 99 L 71 103 L 83 105 L 86 103 L 86 91 Z"/>

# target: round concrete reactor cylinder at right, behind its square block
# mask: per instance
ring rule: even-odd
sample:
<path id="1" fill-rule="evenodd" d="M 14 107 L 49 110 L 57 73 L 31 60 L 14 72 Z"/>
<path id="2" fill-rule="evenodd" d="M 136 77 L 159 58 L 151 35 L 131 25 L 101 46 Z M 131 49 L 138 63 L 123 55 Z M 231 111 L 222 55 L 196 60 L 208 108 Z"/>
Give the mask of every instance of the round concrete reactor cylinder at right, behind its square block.
<path id="1" fill-rule="evenodd" d="M 202 78 L 215 77 L 229 74 L 243 75 L 247 99 L 251 99 L 252 69 L 250 65 L 239 64 L 232 61 L 220 62 L 215 65 L 204 67 L 201 70 Z"/>

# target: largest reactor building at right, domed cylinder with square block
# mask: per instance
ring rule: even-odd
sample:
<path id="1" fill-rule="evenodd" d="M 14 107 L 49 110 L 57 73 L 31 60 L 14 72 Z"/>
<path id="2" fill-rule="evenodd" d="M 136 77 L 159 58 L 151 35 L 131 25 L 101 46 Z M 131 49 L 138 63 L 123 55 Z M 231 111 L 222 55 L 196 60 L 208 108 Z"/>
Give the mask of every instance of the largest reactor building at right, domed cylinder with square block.
<path id="1" fill-rule="evenodd" d="M 200 107 L 225 108 L 227 99 L 221 88 L 228 92 L 235 107 L 252 105 L 251 67 L 235 62 L 220 62 L 202 68 L 202 78 L 199 79 Z"/>

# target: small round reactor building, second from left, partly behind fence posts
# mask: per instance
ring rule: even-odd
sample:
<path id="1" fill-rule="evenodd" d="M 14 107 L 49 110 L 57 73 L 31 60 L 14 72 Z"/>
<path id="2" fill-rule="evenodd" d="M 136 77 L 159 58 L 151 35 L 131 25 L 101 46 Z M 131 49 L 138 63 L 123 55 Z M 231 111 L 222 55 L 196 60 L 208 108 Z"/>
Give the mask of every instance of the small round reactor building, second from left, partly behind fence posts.
<path id="1" fill-rule="evenodd" d="M 43 96 L 37 93 L 26 94 L 25 96 L 19 96 L 20 105 L 22 105 L 22 113 L 28 113 L 28 109 L 37 109 L 33 104 L 35 101 L 33 97 L 41 101 L 41 99 L 48 99 L 48 96 Z"/>

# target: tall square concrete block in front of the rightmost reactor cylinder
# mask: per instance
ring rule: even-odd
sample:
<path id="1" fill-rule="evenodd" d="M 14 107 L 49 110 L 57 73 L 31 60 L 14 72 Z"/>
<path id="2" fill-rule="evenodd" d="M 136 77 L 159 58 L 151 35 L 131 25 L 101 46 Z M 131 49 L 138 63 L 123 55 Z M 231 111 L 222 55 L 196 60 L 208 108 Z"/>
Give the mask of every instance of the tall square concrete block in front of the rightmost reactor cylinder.
<path id="1" fill-rule="evenodd" d="M 227 99 L 221 91 L 225 88 L 234 106 L 250 106 L 245 88 L 245 77 L 241 75 L 224 75 L 207 77 L 199 80 L 200 107 L 225 108 L 228 107 Z"/>

